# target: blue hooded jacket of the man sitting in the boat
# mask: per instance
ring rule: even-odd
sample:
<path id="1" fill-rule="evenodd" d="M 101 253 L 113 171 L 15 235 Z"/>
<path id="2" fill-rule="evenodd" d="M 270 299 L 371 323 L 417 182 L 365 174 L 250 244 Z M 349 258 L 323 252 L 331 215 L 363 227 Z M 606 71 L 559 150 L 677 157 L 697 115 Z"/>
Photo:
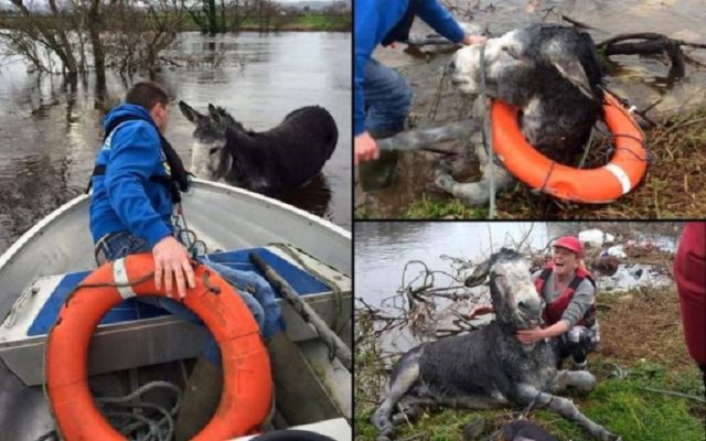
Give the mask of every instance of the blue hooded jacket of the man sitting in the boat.
<path id="1" fill-rule="evenodd" d="M 128 230 L 154 246 L 172 234 L 172 200 L 165 185 L 151 176 L 169 176 L 157 127 L 141 106 L 122 104 L 110 110 L 104 121 L 126 116 L 140 120 L 119 123 L 96 158 L 105 165 L 105 175 L 93 176 L 90 233 L 97 243 L 108 233 Z"/>

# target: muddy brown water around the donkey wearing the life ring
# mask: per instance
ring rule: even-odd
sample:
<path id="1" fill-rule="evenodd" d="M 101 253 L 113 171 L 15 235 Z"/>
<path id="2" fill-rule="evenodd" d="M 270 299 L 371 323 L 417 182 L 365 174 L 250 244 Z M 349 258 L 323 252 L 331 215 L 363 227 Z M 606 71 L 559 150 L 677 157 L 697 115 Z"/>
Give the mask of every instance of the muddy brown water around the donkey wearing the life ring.
<path id="1" fill-rule="evenodd" d="M 524 24 L 539 22 L 556 23 L 557 13 L 593 26 L 588 32 L 596 42 L 624 33 L 657 32 L 670 37 L 695 43 L 706 43 L 706 9 L 699 0 L 627 0 L 627 1 L 446 1 L 456 17 L 480 29 L 488 29 L 492 36 Z M 478 3 L 478 8 L 474 8 Z M 492 4 L 492 7 L 490 7 Z M 534 12 L 528 10 L 534 8 Z M 568 24 L 564 22 L 565 24 Z M 420 20 L 415 21 L 413 34 L 432 32 Z M 430 47 L 409 51 L 403 44 L 395 47 L 378 47 L 374 56 L 396 68 L 409 82 L 414 92 L 409 116 L 411 127 L 434 127 L 457 121 L 470 115 L 468 98 L 459 97 L 449 82 L 441 82 L 442 69 L 453 47 Z M 685 49 L 685 54 L 706 64 L 706 50 Z M 648 115 L 681 114 L 706 104 L 706 68 L 686 64 L 684 78 L 670 76 L 668 58 L 662 56 L 618 55 L 611 56 L 608 87 L 627 97 L 639 109 L 660 101 Z M 441 87 L 440 87 L 441 84 Z M 435 146 L 451 151 L 466 149 L 461 142 Z M 432 163 L 438 154 L 427 152 L 406 153 L 397 165 L 397 178 L 393 185 L 382 192 L 364 193 L 355 185 L 355 211 L 372 217 L 397 217 L 422 195 L 447 197 L 434 185 Z M 468 161 L 454 163 L 457 179 L 468 182 L 478 178 L 477 165 Z"/>

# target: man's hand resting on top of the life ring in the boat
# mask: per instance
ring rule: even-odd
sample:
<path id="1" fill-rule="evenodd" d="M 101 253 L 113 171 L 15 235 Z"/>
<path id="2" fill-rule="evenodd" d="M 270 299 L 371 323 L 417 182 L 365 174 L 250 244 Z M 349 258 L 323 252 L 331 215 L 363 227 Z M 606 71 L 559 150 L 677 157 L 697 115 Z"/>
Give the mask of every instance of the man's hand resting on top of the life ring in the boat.
<path id="1" fill-rule="evenodd" d="M 167 297 L 173 297 L 172 280 L 176 280 L 176 291 L 179 297 L 186 297 L 184 275 L 189 281 L 189 288 L 195 288 L 194 270 L 189 262 L 189 252 L 175 238 L 167 236 L 158 241 L 152 248 L 154 256 L 154 287 L 160 290 L 162 287 L 162 275 L 164 276 L 164 291 Z M 172 279 L 173 277 L 173 279 Z"/>

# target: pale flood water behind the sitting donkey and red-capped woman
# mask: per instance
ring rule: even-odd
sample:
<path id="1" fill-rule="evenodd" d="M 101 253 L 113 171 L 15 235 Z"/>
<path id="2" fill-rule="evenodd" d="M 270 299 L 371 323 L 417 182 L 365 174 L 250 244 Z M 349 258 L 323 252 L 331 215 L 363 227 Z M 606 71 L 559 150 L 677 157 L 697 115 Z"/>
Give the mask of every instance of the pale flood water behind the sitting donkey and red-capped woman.
<path id="1" fill-rule="evenodd" d="M 625 232 L 630 237 L 666 246 L 672 252 L 682 230 L 678 224 L 672 223 L 631 223 L 630 229 L 625 225 L 610 228 L 607 224 L 590 222 L 359 222 L 355 224 L 355 297 L 381 306 L 381 301 L 394 295 L 400 287 L 405 265 L 410 260 L 422 260 L 430 270 L 450 272 L 450 261 L 441 256 L 478 263 L 490 256 L 491 249 L 496 251 L 502 246 L 517 249 L 525 237 L 525 246 L 543 250 L 553 238 L 577 235 L 597 225 L 613 236 L 620 237 L 621 232 Z M 421 267 L 410 268 L 406 280 L 420 270 Z M 438 281 L 436 288 L 452 284 L 448 278 Z"/>

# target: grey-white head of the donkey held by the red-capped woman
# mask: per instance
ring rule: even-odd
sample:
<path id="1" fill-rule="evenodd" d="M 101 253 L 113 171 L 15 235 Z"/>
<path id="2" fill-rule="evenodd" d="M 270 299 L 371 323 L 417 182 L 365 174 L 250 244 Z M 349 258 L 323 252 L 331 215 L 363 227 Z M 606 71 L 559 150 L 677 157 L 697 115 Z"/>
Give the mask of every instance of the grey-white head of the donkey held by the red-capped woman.
<path id="1" fill-rule="evenodd" d="M 466 286 L 477 287 L 490 278 L 496 320 L 513 329 L 531 329 L 542 322 L 542 300 L 531 276 L 530 260 L 502 248 L 475 268 Z"/>

